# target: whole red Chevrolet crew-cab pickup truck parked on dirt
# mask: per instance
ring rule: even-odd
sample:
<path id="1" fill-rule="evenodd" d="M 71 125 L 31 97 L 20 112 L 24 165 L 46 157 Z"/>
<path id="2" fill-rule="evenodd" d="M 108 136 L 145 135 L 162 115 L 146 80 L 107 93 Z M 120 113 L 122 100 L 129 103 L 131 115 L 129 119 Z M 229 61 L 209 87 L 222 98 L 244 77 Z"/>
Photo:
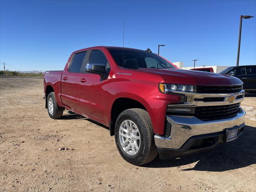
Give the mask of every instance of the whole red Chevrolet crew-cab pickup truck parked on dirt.
<path id="1" fill-rule="evenodd" d="M 150 49 L 75 51 L 63 71 L 45 72 L 44 98 L 53 119 L 67 109 L 108 126 L 135 165 L 208 150 L 245 126 L 241 80 L 180 70 Z"/>

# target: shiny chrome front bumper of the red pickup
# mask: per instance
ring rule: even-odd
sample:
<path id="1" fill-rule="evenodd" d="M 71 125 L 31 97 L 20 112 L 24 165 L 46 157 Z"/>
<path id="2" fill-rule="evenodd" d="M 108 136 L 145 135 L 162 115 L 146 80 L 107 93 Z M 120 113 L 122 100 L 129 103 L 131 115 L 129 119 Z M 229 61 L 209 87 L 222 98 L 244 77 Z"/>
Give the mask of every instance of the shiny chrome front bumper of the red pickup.
<path id="1" fill-rule="evenodd" d="M 215 133 L 232 128 L 243 126 L 245 112 L 242 110 L 232 118 L 202 121 L 194 116 L 166 116 L 171 124 L 169 137 L 155 135 L 155 144 L 160 148 L 179 149 L 192 136 Z"/>

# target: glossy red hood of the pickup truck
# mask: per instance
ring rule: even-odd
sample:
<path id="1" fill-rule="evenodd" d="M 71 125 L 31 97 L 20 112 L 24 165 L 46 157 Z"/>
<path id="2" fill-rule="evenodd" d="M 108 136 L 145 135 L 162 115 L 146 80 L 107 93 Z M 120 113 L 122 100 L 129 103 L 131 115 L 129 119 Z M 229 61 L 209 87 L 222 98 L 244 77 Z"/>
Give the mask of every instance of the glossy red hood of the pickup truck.
<path id="1" fill-rule="evenodd" d="M 243 82 L 225 74 L 203 72 L 196 70 L 182 69 L 156 69 L 140 68 L 144 72 L 159 74 L 166 80 L 166 83 L 187 84 L 187 85 L 212 85 L 212 86 L 231 86 L 242 85 Z"/>

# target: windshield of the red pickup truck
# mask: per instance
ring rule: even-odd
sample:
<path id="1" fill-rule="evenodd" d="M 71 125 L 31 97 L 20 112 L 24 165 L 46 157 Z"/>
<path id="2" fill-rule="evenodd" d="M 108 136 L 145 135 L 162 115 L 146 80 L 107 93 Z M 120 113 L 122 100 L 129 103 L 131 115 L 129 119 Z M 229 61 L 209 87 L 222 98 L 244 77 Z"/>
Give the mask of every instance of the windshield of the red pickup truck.
<path id="1" fill-rule="evenodd" d="M 120 67 L 137 68 L 175 68 L 162 57 L 140 50 L 108 48 L 114 60 Z M 122 59 L 124 55 L 124 60 Z"/>

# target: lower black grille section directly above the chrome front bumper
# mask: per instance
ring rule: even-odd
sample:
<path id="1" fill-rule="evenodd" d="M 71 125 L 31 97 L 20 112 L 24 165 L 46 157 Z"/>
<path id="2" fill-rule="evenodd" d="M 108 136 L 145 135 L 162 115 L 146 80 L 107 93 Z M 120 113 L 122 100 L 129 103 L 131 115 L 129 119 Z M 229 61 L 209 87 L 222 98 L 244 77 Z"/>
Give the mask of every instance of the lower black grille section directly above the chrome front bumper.
<path id="1" fill-rule="evenodd" d="M 204 106 L 195 108 L 195 116 L 203 121 L 226 119 L 236 116 L 240 111 L 240 103 L 220 106 Z"/>

